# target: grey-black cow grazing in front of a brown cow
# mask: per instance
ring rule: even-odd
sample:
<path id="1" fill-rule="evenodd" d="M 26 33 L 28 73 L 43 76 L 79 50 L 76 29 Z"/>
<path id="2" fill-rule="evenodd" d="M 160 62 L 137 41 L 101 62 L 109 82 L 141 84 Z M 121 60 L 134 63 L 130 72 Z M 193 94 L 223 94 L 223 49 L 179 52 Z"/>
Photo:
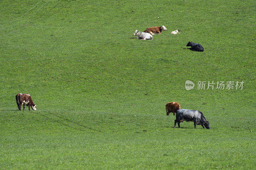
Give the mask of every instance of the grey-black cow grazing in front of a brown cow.
<path id="1" fill-rule="evenodd" d="M 198 110 L 188 110 L 188 109 L 178 109 L 176 111 L 176 119 L 174 120 L 174 127 L 176 127 L 176 123 L 178 122 L 178 127 L 180 128 L 180 122 L 183 121 L 193 121 L 194 126 L 201 125 L 203 128 L 210 129 L 209 122 L 206 121 L 202 112 Z"/>

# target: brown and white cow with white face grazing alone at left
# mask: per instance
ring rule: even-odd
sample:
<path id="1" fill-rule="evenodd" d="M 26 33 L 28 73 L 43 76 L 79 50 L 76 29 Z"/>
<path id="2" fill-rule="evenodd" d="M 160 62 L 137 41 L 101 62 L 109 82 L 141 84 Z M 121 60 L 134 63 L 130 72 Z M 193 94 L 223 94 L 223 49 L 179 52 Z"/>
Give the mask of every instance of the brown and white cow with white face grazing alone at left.
<path id="1" fill-rule="evenodd" d="M 30 110 L 30 106 L 33 110 L 36 110 L 36 104 L 34 104 L 29 94 L 21 94 L 21 93 L 17 94 L 16 102 L 19 110 L 21 110 L 22 105 L 23 105 L 23 110 L 25 109 L 25 105 L 28 106 L 28 110 Z"/>

